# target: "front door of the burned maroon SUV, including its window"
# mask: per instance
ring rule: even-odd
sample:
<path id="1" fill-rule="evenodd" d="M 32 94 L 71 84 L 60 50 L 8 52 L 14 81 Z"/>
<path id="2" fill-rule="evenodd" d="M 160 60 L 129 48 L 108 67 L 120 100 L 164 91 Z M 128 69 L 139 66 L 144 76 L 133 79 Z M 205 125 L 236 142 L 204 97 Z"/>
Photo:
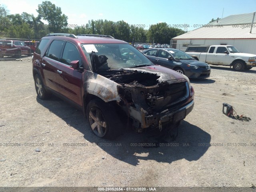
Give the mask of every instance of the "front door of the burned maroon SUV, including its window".
<path id="1" fill-rule="evenodd" d="M 71 42 L 66 42 L 62 58 L 57 64 L 57 88 L 59 93 L 82 106 L 82 71 L 70 67 L 70 62 L 75 60 L 78 60 L 82 66 L 82 59 L 77 47 Z"/>

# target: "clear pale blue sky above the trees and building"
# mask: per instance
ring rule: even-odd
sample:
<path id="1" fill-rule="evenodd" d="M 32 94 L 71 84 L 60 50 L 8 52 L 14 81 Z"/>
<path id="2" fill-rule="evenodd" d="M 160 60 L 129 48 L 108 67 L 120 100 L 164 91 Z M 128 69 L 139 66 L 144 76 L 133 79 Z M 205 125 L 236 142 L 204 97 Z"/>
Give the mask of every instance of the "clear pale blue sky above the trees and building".
<path id="1" fill-rule="evenodd" d="M 42 0 L 0 0 L 10 14 L 27 12 L 37 16 Z M 166 22 L 169 26 L 188 31 L 207 24 L 212 18 L 256 11 L 256 0 L 51 0 L 68 16 L 68 26 L 85 26 L 88 20 L 124 20 L 142 26 Z M 44 21 L 45 22 L 45 21 Z M 47 24 L 45 22 L 45 24 Z"/>

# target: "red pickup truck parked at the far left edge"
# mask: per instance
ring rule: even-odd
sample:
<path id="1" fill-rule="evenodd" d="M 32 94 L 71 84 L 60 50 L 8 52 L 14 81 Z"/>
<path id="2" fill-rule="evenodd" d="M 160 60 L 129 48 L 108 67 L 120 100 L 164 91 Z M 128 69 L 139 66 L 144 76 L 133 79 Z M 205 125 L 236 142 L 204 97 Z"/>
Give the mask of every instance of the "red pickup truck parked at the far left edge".
<path id="1" fill-rule="evenodd" d="M 0 40 L 0 57 L 14 56 L 21 58 L 21 55 L 30 55 L 30 48 L 17 40 Z"/>

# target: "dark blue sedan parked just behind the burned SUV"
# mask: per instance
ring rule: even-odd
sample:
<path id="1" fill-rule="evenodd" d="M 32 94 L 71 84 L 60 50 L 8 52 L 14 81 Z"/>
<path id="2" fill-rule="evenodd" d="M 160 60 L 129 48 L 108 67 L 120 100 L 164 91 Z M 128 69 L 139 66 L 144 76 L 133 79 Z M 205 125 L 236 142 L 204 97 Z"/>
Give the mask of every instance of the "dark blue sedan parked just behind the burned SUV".
<path id="1" fill-rule="evenodd" d="M 199 62 L 192 56 L 171 48 L 150 49 L 143 52 L 154 64 L 173 69 L 189 78 L 210 77 L 211 68 L 205 62 Z"/>

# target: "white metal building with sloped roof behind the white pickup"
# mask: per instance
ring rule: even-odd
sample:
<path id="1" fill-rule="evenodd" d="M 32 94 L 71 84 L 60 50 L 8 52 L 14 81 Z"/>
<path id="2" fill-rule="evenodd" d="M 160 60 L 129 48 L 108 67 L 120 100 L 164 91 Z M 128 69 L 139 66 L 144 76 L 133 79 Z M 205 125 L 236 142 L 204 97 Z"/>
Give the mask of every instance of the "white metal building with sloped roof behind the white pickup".
<path id="1" fill-rule="evenodd" d="M 232 45 L 240 52 L 256 54 L 256 16 L 231 15 L 206 24 L 171 40 L 172 48 L 185 51 L 193 45 Z"/>

